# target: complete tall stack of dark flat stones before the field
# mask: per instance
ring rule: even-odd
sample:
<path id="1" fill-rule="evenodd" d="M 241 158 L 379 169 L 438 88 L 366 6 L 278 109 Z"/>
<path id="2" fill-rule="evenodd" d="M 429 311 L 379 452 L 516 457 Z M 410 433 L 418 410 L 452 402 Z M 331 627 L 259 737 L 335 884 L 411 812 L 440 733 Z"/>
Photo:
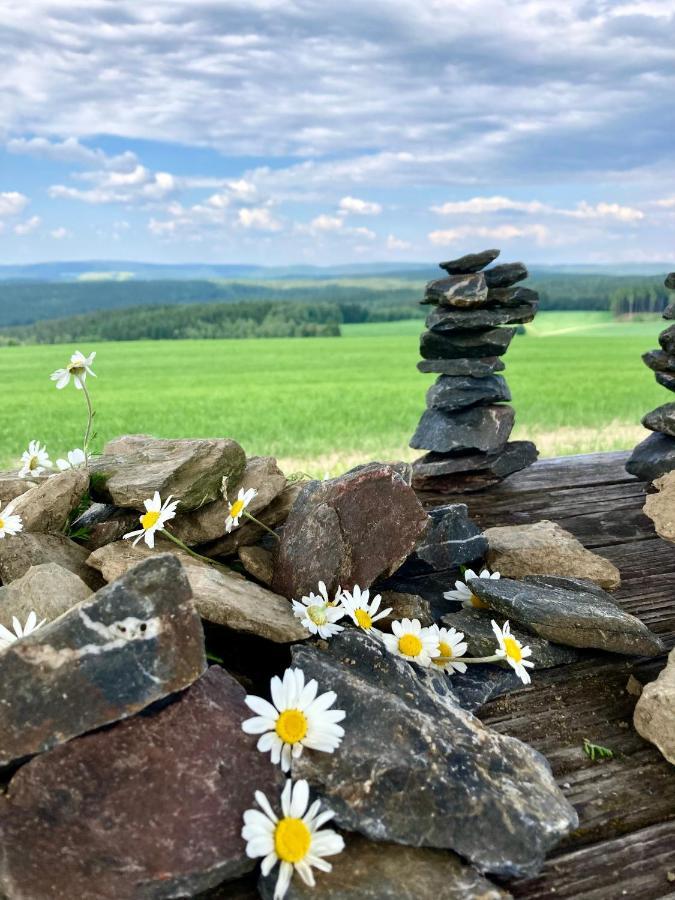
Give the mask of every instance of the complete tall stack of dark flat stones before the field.
<path id="1" fill-rule="evenodd" d="M 515 412 L 504 377 L 495 373 L 517 331 L 501 326 L 531 322 L 539 296 L 515 286 L 528 275 L 522 263 L 485 269 L 498 256 L 484 250 L 441 263 L 447 277 L 431 281 L 421 301 L 433 308 L 417 368 L 439 377 L 410 441 L 429 451 L 413 466 L 418 490 L 480 490 L 537 458 L 530 441 L 509 442 Z"/>

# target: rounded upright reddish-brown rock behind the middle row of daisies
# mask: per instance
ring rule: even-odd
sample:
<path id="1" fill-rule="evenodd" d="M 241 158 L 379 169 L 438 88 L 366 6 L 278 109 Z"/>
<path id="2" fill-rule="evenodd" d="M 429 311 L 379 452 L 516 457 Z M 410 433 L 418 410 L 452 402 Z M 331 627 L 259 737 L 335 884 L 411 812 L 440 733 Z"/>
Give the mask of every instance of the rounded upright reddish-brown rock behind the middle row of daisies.
<path id="1" fill-rule="evenodd" d="M 370 463 L 305 485 L 278 548 L 272 586 L 300 598 L 324 581 L 369 587 L 413 551 L 427 525 L 415 492 L 396 469 Z"/>

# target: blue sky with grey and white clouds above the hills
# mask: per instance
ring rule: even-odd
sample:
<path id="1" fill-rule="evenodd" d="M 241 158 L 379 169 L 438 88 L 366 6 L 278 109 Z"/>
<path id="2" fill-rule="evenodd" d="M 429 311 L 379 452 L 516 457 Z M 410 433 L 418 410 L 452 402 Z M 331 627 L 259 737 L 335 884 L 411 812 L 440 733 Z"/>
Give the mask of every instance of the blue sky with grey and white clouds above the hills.
<path id="1" fill-rule="evenodd" d="M 0 262 L 675 260 L 675 0 L 0 0 Z"/>

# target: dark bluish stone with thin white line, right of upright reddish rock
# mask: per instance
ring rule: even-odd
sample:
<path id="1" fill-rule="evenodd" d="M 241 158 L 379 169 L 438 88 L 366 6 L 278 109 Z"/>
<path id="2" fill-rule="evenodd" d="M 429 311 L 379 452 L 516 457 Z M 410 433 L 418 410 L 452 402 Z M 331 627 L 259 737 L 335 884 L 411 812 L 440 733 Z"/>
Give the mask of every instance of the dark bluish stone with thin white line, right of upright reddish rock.
<path id="1" fill-rule="evenodd" d="M 487 553 L 488 542 L 469 518 L 466 504 L 437 506 L 429 510 L 429 520 L 415 552 L 432 569 L 456 568 Z"/>

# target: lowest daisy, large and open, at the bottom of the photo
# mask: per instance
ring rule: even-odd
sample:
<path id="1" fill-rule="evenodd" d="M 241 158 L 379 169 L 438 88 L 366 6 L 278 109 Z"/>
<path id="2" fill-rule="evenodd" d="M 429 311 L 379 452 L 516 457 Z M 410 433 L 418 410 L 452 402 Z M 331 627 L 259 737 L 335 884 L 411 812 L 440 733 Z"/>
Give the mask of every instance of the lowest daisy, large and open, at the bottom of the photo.
<path id="1" fill-rule="evenodd" d="M 324 857 L 335 856 L 345 847 L 336 831 L 321 827 L 335 813 L 328 809 L 320 812 L 319 800 L 308 808 L 309 785 L 304 780 L 295 784 L 290 779 L 286 782 L 281 792 L 281 818 L 262 791 L 255 792 L 255 799 L 262 812 L 246 810 L 241 836 L 246 841 L 249 859 L 263 857 L 260 866 L 263 876 L 269 875 L 279 863 L 274 900 L 283 900 L 286 896 L 294 872 L 308 887 L 314 887 L 312 867 L 330 872 L 332 866 Z"/>

